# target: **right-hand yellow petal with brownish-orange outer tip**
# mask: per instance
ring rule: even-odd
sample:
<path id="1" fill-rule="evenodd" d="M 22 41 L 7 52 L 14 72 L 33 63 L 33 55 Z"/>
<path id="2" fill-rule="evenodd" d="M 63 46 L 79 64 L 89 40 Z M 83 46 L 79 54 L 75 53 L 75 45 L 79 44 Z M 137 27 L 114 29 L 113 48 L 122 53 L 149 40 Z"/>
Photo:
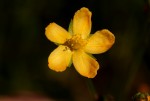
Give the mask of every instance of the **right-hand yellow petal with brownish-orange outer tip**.
<path id="1" fill-rule="evenodd" d="M 84 49 L 87 53 L 99 54 L 107 51 L 114 42 L 115 36 L 109 30 L 103 29 L 89 38 Z"/>

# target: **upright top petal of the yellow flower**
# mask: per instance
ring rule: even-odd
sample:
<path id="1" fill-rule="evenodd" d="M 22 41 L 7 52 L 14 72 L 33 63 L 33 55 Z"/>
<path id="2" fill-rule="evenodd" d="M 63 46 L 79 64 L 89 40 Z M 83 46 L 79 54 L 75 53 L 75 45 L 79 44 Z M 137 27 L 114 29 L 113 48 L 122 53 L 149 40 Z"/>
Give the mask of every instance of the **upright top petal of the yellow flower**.
<path id="1" fill-rule="evenodd" d="M 85 39 L 91 32 L 92 13 L 85 7 L 78 10 L 73 18 L 73 33 L 81 34 Z"/>

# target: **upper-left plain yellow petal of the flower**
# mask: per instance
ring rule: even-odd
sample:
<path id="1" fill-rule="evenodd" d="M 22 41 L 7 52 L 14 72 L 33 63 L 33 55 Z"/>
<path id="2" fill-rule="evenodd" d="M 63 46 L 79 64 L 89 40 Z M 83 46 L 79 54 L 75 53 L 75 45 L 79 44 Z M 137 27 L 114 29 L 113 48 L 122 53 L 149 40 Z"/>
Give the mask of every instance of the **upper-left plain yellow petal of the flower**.
<path id="1" fill-rule="evenodd" d="M 63 44 L 66 39 L 71 37 L 71 35 L 64 28 L 56 23 L 50 23 L 46 27 L 45 35 L 50 41 L 58 44 Z"/>

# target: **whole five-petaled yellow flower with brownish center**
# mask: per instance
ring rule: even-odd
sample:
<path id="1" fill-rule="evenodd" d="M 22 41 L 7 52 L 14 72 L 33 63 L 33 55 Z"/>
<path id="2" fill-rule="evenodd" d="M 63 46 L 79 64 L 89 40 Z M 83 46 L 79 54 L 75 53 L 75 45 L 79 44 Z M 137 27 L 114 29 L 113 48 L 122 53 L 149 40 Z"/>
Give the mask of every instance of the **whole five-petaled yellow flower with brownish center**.
<path id="1" fill-rule="evenodd" d="M 115 42 L 115 37 L 107 29 L 90 34 L 91 16 L 88 8 L 83 7 L 75 13 L 69 32 L 56 23 L 50 23 L 46 27 L 46 37 L 58 45 L 48 57 L 50 69 L 62 72 L 73 62 L 82 76 L 96 76 L 99 64 L 91 54 L 107 51 Z"/>

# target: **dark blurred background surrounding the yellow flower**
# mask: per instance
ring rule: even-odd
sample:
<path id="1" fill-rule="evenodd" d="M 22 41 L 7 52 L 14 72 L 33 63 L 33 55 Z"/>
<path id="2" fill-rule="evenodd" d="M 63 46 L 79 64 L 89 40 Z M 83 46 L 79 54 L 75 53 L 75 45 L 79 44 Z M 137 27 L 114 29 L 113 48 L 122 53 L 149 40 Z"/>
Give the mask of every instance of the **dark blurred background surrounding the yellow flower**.
<path id="1" fill-rule="evenodd" d="M 57 73 L 47 58 L 57 46 L 45 37 L 56 22 L 68 29 L 81 7 L 92 11 L 92 33 L 116 37 L 91 81 L 74 67 Z M 0 0 L 0 97 L 33 93 L 54 101 L 132 101 L 150 90 L 150 0 Z M 43 100 L 44 101 L 44 100 Z"/>

